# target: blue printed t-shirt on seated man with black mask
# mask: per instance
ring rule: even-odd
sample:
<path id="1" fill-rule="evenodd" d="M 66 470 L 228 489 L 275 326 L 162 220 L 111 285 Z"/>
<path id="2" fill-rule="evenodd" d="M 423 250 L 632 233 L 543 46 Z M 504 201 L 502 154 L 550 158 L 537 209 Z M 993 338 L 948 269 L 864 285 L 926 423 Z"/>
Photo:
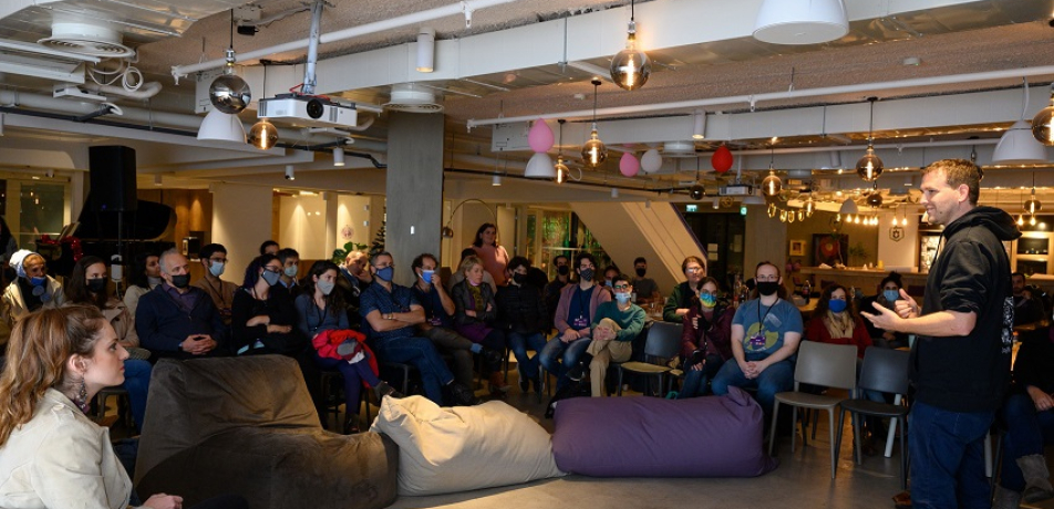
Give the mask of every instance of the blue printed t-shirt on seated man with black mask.
<path id="1" fill-rule="evenodd" d="M 783 299 L 771 307 L 762 305 L 761 299 L 747 301 L 735 311 L 732 323 L 743 325 L 743 352 L 751 361 L 765 359 L 783 347 L 786 333 L 803 331 L 802 312 Z"/>

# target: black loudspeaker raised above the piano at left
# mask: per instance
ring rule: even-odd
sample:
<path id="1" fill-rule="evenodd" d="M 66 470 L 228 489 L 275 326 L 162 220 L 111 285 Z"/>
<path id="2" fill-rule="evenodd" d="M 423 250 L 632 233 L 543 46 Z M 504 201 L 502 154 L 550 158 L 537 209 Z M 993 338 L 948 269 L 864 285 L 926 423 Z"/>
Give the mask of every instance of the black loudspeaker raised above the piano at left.
<path id="1" fill-rule="evenodd" d="M 123 146 L 89 147 L 91 178 L 89 210 L 93 212 L 135 211 L 135 149 Z"/>

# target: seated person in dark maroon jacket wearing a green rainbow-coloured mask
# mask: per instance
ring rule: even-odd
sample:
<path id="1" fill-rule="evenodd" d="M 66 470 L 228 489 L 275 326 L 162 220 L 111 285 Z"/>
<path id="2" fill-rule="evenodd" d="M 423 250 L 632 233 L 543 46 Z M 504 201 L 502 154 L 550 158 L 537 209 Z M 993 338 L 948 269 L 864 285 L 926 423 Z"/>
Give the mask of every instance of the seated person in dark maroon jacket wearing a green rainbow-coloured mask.
<path id="1" fill-rule="evenodd" d="M 732 359 L 732 318 L 735 309 L 717 302 L 717 280 L 703 279 L 699 298 L 684 315 L 681 359 L 684 384 L 678 398 L 706 395 L 706 383 Z"/>

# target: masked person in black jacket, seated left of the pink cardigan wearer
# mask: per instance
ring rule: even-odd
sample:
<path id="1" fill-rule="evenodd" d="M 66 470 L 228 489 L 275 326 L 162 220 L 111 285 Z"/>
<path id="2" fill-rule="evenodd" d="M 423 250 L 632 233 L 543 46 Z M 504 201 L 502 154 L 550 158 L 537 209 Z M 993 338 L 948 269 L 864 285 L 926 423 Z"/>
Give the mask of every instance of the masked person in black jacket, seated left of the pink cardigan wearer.
<path id="1" fill-rule="evenodd" d="M 546 304 L 537 287 L 527 282 L 530 260 L 514 257 L 508 262 L 508 284 L 498 289 L 495 297 L 498 309 L 498 325 L 505 331 L 508 346 L 516 355 L 516 370 L 519 372 L 519 388 L 527 392 L 534 384 L 535 392 L 541 392 L 538 377 L 538 354 L 546 345 L 546 332 L 549 330 Z M 535 351 L 531 357 L 527 349 Z"/>

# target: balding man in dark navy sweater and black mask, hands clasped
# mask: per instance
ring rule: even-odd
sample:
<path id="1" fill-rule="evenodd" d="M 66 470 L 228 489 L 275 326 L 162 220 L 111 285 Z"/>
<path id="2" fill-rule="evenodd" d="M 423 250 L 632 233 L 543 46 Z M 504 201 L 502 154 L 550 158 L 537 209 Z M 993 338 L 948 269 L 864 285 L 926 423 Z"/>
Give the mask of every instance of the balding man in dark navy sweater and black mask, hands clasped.
<path id="1" fill-rule="evenodd" d="M 227 355 L 227 326 L 208 294 L 190 285 L 187 258 L 169 249 L 159 262 L 165 282 L 146 292 L 135 310 L 135 332 L 151 359 Z"/>

